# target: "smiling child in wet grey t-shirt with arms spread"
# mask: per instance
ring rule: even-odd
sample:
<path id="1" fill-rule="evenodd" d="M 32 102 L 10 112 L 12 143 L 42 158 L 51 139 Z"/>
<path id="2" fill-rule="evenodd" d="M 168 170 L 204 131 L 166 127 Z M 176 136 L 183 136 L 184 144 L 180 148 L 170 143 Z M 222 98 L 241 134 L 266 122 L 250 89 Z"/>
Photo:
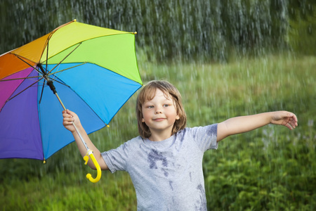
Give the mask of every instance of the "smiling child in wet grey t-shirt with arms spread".
<path id="1" fill-rule="evenodd" d="M 294 113 L 277 111 L 187 128 L 180 93 L 166 81 L 152 81 L 143 87 L 136 112 L 140 136 L 104 153 L 93 145 L 75 113 L 64 111 L 63 124 L 74 135 L 82 156 L 86 148 L 72 122 L 93 150 L 102 170 L 129 172 L 138 210 L 207 210 L 202 171 L 205 151 L 218 148 L 218 141 L 227 136 L 266 124 L 282 124 L 289 129 L 298 125 Z M 90 160 L 88 165 L 95 169 Z"/>

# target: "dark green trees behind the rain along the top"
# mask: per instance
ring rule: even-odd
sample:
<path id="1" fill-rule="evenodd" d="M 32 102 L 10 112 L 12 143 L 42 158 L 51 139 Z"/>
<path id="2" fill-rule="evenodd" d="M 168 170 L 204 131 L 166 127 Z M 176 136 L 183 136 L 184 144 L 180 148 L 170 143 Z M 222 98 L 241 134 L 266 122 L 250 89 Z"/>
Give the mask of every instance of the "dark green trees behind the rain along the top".
<path id="1" fill-rule="evenodd" d="M 315 6 L 314 0 L 3 0 L 0 49 L 15 49 L 77 18 L 137 31 L 136 45 L 151 61 L 229 61 L 291 48 L 315 55 Z"/>

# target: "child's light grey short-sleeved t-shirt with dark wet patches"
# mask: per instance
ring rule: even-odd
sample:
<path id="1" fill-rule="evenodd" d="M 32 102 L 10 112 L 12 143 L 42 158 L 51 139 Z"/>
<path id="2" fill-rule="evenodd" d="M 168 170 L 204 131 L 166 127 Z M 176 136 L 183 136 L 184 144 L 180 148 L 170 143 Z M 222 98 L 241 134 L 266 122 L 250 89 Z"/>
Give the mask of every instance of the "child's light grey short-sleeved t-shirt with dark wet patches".
<path id="1" fill-rule="evenodd" d="M 185 128 L 164 141 L 140 136 L 102 153 L 110 171 L 129 172 L 138 210 L 207 210 L 202 159 L 218 147 L 217 124 Z"/>

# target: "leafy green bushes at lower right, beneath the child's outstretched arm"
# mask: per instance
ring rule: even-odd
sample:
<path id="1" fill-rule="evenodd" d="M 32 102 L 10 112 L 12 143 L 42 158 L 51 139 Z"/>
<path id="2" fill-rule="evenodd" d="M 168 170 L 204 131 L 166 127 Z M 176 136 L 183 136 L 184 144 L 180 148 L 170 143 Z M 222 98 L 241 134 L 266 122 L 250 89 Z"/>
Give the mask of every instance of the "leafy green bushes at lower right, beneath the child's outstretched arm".
<path id="1" fill-rule="evenodd" d="M 306 135 L 284 136 L 265 127 L 225 141 L 221 156 L 205 155 L 208 207 L 315 210 L 315 137 Z"/>

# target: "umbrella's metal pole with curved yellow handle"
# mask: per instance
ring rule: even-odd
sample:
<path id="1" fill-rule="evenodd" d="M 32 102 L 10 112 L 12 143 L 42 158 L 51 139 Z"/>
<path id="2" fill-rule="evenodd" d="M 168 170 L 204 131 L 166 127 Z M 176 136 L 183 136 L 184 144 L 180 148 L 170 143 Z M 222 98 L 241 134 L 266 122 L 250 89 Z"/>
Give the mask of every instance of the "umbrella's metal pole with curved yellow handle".
<path id="1" fill-rule="evenodd" d="M 45 77 L 46 75 L 44 75 Z M 49 79 L 48 77 L 45 77 L 45 79 L 47 80 L 47 84 L 48 86 L 51 88 L 51 91 L 53 91 L 53 94 L 55 94 L 55 96 L 58 98 L 58 101 L 60 102 L 62 108 L 64 110 L 66 110 L 66 107 L 64 106 L 64 103 L 62 103 L 62 101 L 60 100 L 60 97 L 58 96 L 57 94 L 57 91 L 55 89 L 55 86 L 53 84 L 53 81 L 51 79 Z M 93 183 L 96 183 L 97 181 L 100 180 L 101 178 L 101 168 L 100 168 L 100 165 L 98 164 L 98 161 L 96 160 L 96 158 L 94 157 L 93 155 L 93 151 L 91 151 L 88 146 L 86 145 L 86 142 L 84 141 L 84 138 L 81 136 L 80 132 L 79 132 L 79 129 L 77 128 L 76 124 L 74 124 L 74 122 L 72 122 L 72 125 L 74 126 L 74 129 L 76 130 L 77 134 L 79 135 L 82 143 L 84 144 L 84 146 L 86 147 L 86 155 L 84 156 L 84 160 L 86 162 L 84 162 L 84 164 L 86 165 L 88 163 L 88 160 L 89 160 L 89 157 L 91 158 L 93 164 L 95 165 L 96 167 L 96 170 L 97 170 L 97 177 L 96 178 L 93 178 L 91 174 L 86 174 L 86 178 L 88 180 L 90 180 L 91 182 Z"/>

